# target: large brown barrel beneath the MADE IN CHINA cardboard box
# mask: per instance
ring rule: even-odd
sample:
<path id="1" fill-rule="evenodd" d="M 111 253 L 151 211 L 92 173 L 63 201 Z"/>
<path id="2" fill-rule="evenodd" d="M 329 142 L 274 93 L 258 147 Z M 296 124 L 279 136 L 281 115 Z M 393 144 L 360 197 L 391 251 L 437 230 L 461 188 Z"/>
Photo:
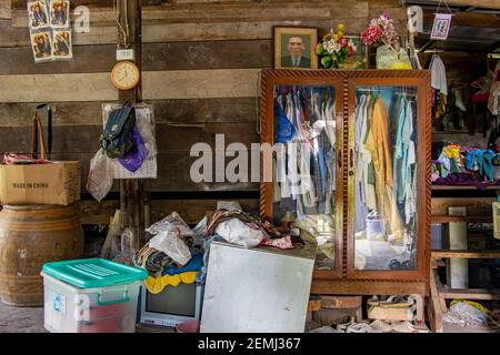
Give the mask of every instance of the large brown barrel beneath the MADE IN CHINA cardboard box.
<path id="1" fill-rule="evenodd" d="M 43 305 L 42 265 L 79 258 L 83 230 L 72 206 L 9 206 L 0 211 L 0 297 L 14 306 Z"/>

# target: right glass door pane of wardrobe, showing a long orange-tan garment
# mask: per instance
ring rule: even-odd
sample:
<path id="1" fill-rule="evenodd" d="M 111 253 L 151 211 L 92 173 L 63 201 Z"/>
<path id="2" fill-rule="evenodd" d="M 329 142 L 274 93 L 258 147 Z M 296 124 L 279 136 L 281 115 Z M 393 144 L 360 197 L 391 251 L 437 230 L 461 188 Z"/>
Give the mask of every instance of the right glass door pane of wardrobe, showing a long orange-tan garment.
<path id="1" fill-rule="evenodd" d="M 418 88 L 358 84 L 354 94 L 350 123 L 353 274 L 414 272 L 417 187 L 419 174 L 426 173 L 418 169 Z"/>

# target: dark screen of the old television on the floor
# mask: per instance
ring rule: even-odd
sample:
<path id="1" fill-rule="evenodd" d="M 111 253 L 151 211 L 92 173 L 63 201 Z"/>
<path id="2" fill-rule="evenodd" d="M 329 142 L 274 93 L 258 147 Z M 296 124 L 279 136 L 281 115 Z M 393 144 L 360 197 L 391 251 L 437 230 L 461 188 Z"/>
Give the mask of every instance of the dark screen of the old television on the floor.
<path id="1" fill-rule="evenodd" d="M 146 312 L 194 317 L 197 311 L 197 284 L 180 283 L 167 286 L 159 294 L 146 293 Z"/>

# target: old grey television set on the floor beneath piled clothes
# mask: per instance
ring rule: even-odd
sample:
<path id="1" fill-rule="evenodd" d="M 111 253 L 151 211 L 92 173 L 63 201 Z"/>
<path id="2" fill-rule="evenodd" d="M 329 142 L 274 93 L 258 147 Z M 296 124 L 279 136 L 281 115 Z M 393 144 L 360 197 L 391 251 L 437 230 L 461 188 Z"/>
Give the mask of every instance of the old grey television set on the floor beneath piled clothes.
<path id="1" fill-rule="evenodd" d="M 158 294 L 141 290 L 140 323 L 176 327 L 182 322 L 200 321 L 203 286 L 197 283 L 167 286 Z"/>

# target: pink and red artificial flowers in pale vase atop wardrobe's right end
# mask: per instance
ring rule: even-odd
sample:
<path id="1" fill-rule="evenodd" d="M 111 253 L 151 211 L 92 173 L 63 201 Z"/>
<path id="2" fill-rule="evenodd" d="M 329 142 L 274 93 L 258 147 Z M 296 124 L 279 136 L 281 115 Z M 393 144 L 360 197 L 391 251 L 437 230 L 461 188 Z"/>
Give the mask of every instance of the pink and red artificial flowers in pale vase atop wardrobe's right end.
<path id="1" fill-rule="evenodd" d="M 361 40 L 367 45 L 379 45 L 377 69 L 411 69 L 407 52 L 399 47 L 398 33 L 389 12 L 383 11 L 380 17 L 371 19 L 361 33 Z"/>

